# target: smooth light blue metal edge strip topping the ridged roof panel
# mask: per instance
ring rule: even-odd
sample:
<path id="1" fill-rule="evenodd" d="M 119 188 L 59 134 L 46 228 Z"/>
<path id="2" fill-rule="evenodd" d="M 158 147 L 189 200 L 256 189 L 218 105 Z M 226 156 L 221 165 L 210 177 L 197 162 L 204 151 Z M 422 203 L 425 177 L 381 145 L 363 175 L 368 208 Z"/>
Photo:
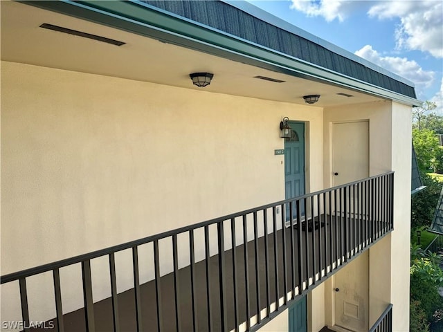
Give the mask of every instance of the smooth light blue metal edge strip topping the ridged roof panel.
<path id="1" fill-rule="evenodd" d="M 219 1 L 222 1 L 224 3 L 227 3 L 230 6 L 233 6 L 239 10 L 242 10 L 242 11 L 248 13 L 249 15 L 256 17 L 257 19 L 261 19 L 262 21 L 265 21 L 266 23 L 269 23 L 269 24 L 275 26 L 276 28 L 286 30 L 289 33 L 293 33 L 294 35 L 298 35 L 302 38 L 305 38 L 305 39 L 309 40 L 310 42 L 313 42 L 315 44 L 323 46 L 324 48 L 326 48 L 327 50 L 330 50 L 333 53 L 336 53 L 338 55 L 346 57 L 347 59 L 350 59 L 354 62 L 362 64 L 363 66 L 366 66 L 374 71 L 377 71 L 378 73 L 386 75 L 394 80 L 397 80 L 401 83 L 407 84 L 407 85 L 415 88 L 414 82 L 411 82 L 410 80 L 406 79 L 405 77 L 401 77 L 400 75 L 397 75 L 396 73 L 392 73 L 392 71 L 388 71 L 387 69 L 385 69 L 377 64 L 374 64 L 373 62 L 370 62 L 367 59 L 363 59 L 363 57 L 359 57 L 358 55 L 355 55 L 354 53 L 350 52 L 349 50 L 345 50 L 344 48 L 336 46 L 335 44 L 332 44 L 331 42 L 327 42 L 325 39 L 321 39 L 320 37 L 317 37 L 316 35 L 308 33 L 306 30 L 303 30 L 302 28 L 298 28 L 298 26 L 294 26 L 293 24 L 289 23 L 288 21 L 284 21 L 284 19 L 280 19 L 280 17 L 276 17 L 275 15 L 272 15 L 271 13 L 266 12 L 265 10 L 258 8 L 257 6 L 254 6 L 253 3 L 250 3 L 245 0 L 219 0 Z"/>

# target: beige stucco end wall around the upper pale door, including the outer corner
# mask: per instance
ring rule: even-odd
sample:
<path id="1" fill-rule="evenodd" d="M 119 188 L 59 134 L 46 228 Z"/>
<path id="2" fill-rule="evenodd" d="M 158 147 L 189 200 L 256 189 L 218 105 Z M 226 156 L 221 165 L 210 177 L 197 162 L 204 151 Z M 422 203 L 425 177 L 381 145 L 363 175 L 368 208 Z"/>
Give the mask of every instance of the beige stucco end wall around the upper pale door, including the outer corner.
<path id="1" fill-rule="evenodd" d="M 358 111 L 356 111 L 358 110 Z M 332 122 L 370 122 L 370 176 L 395 171 L 395 230 L 370 248 L 370 326 L 389 303 L 394 304 L 392 331 L 409 326 L 410 142 L 411 108 L 389 101 L 325 109 L 325 187 L 332 183 Z M 329 284 L 326 291 L 332 291 Z M 332 297 L 325 294 L 326 308 Z M 329 302 L 329 303 L 328 303 Z M 332 315 L 325 314 L 327 324 Z"/>

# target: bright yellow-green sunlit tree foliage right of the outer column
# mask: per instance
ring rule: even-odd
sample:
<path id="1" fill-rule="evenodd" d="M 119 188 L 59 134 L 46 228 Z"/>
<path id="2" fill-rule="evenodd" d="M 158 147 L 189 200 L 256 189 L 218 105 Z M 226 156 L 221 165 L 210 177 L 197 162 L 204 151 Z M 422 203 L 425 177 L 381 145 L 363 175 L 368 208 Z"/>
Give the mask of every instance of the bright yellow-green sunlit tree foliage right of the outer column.
<path id="1" fill-rule="evenodd" d="M 419 169 L 424 172 L 434 169 L 440 156 L 440 143 L 435 132 L 430 129 L 413 129 L 413 143 Z"/>

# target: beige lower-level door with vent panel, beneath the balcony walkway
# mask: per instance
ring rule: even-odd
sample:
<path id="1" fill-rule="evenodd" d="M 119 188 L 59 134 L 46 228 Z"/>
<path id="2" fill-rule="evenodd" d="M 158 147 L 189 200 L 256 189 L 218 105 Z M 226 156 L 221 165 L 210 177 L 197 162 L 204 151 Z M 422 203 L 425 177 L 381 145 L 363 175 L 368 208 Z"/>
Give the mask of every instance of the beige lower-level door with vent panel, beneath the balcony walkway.
<path id="1" fill-rule="evenodd" d="M 368 285 L 369 251 L 366 250 L 334 275 L 335 327 L 356 332 L 368 331 Z"/>

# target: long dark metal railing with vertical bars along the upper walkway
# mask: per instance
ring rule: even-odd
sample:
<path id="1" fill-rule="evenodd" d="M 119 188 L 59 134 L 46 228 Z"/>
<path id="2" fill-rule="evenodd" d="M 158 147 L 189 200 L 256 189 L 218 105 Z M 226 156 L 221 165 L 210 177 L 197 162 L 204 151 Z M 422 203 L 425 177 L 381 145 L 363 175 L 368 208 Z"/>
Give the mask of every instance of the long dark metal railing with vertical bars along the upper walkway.
<path id="1" fill-rule="evenodd" d="M 393 172 L 373 176 L 3 275 L 1 284 L 19 284 L 25 330 L 42 320 L 27 282 L 48 272 L 55 313 L 47 319 L 57 331 L 255 330 L 393 229 L 393 181 Z M 132 260 L 124 292 L 120 252 Z M 91 270 L 96 259 L 106 263 L 99 275 Z M 74 265 L 83 301 L 65 313 L 61 272 Z M 93 279 L 110 284 L 100 301 Z"/>

